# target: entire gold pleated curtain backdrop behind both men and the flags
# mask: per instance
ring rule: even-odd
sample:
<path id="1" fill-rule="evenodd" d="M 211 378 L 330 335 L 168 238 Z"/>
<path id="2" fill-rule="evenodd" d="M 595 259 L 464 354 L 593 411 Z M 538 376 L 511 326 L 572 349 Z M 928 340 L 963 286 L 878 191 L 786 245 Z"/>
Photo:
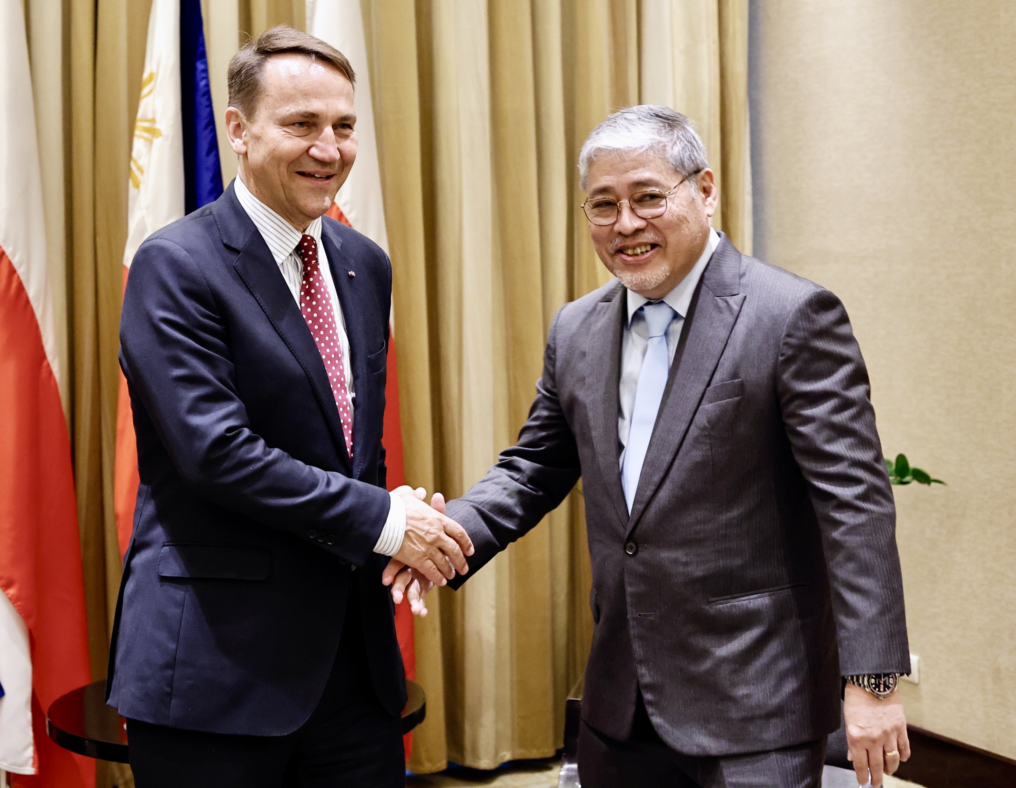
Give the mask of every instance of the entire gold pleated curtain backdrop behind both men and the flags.
<path id="1" fill-rule="evenodd" d="M 120 581 L 113 516 L 127 167 L 150 0 L 26 0 L 92 675 Z M 689 115 L 716 225 L 751 246 L 747 0 L 363 0 L 394 268 L 408 481 L 449 497 L 513 442 L 557 309 L 606 283 L 578 208 L 588 131 L 639 102 Z M 303 0 L 203 0 L 212 100 L 241 40 Z M 60 43 L 58 46 L 57 43 Z M 219 129 L 224 181 L 236 157 Z M 553 754 L 591 638 L 580 490 L 417 623 L 410 768 Z M 101 771 L 100 785 L 129 777 Z"/>

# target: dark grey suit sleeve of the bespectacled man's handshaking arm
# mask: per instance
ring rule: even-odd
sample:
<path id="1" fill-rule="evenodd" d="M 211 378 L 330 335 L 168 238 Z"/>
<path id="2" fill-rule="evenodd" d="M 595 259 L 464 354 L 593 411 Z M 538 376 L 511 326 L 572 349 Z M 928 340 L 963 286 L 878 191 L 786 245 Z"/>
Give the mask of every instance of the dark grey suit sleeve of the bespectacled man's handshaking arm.
<path id="1" fill-rule="evenodd" d="M 559 311 L 547 341 L 536 399 L 518 442 L 502 451 L 497 464 L 465 495 L 448 503 L 448 517 L 468 532 L 475 548 L 467 559 L 468 574 L 449 581 L 452 588 L 457 589 L 475 569 L 528 533 L 561 504 L 578 481 L 578 448 L 556 382 L 560 317 Z"/>

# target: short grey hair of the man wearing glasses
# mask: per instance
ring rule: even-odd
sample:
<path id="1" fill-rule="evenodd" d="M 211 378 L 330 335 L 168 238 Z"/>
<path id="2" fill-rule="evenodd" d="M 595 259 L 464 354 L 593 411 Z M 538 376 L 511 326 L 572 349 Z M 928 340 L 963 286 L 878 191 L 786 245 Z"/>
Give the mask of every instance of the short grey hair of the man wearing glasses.
<path id="1" fill-rule="evenodd" d="M 614 113 L 589 132 L 578 155 L 579 185 L 588 185 L 589 165 L 602 154 L 658 151 L 674 171 L 692 185 L 694 175 L 709 164 L 694 124 L 670 107 L 640 104 Z"/>

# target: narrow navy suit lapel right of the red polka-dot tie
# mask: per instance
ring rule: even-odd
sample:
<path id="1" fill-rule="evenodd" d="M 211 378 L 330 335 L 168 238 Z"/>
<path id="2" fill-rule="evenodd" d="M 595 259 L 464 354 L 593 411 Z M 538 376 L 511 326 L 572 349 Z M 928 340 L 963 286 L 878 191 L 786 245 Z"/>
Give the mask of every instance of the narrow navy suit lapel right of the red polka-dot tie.
<path id="1" fill-rule="evenodd" d="M 356 274 L 356 266 L 348 255 L 342 252 L 342 239 L 322 222 L 321 245 L 328 257 L 331 269 L 331 281 L 335 283 L 338 304 L 342 308 L 345 322 L 345 336 L 350 341 L 350 369 L 353 370 L 353 385 L 357 399 L 353 406 L 353 478 L 359 478 L 363 470 L 363 458 L 366 452 L 357 451 L 357 446 L 366 445 L 364 439 L 370 426 L 365 418 L 365 407 L 368 398 L 367 355 L 370 348 L 365 336 L 366 321 L 363 315 L 364 299 L 358 298 L 355 289 L 356 279 L 350 271 Z M 387 315 L 386 315 L 387 317 Z M 341 425 L 339 425 L 341 428 Z M 344 442 L 343 442 L 344 445 Z"/>

